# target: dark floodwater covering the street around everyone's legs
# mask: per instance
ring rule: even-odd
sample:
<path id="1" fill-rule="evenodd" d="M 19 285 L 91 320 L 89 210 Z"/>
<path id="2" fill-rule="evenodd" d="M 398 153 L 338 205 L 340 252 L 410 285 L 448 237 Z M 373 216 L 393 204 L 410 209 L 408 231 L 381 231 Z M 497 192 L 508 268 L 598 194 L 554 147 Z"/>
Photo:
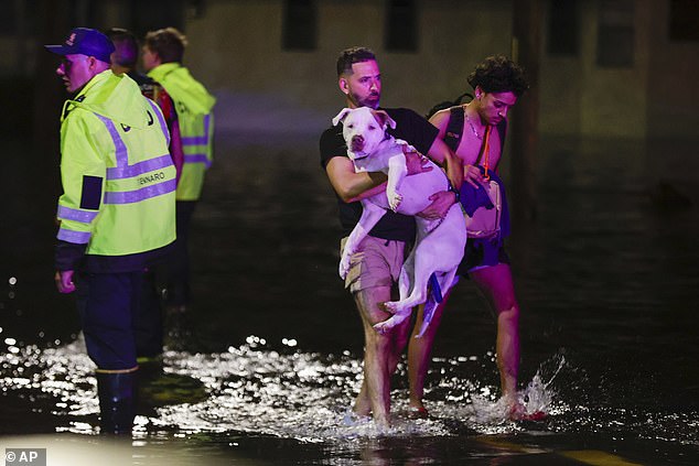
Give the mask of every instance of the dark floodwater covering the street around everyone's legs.
<path id="1" fill-rule="evenodd" d="M 542 140 L 537 218 L 515 225 L 509 252 L 519 386 L 548 418 L 503 419 L 494 321 L 462 281 L 434 348 L 431 418 L 407 415 L 402 364 L 394 427 L 378 431 L 347 415 L 362 327 L 336 277 L 316 139 L 270 139 L 217 141 L 192 231 L 191 336 L 169 342 L 168 398 L 139 411 L 126 444 L 95 435 L 94 367 L 74 299 L 54 290 L 56 159 L 6 145 L 0 445 L 46 447 L 49 464 L 71 452 L 61 464 L 699 463 L 695 144 Z"/>

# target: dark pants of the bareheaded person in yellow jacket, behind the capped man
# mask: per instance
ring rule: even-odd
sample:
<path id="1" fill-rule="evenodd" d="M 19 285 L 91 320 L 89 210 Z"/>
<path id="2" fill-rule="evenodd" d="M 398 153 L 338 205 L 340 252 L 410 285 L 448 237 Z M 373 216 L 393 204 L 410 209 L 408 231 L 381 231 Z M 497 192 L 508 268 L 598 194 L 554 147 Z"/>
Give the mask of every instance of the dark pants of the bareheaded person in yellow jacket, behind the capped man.
<path id="1" fill-rule="evenodd" d="M 168 257 L 166 289 L 169 305 L 181 306 L 190 302 L 190 223 L 196 201 L 178 201 L 178 239 Z"/>

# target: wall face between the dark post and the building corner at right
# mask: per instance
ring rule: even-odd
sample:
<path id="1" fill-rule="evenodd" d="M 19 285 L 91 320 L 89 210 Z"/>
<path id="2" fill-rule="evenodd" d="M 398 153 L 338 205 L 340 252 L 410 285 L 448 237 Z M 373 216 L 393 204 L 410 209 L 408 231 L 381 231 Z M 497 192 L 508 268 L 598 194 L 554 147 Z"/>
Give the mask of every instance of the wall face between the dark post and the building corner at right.
<path id="1" fill-rule="evenodd" d="M 634 64 L 596 64 L 599 2 L 579 2 L 580 53 L 542 53 L 539 128 L 542 133 L 583 137 L 646 136 L 649 2 L 634 4 Z"/>

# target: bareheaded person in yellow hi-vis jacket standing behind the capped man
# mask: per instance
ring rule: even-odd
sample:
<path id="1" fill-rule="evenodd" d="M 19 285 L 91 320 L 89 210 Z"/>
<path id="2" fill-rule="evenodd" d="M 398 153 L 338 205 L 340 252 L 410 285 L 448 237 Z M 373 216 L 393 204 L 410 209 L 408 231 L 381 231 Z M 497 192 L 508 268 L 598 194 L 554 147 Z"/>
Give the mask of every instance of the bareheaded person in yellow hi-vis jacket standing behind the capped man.
<path id="1" fill-rule="evenodd" d="M 169 265 L 168 307 L 182 313 L 190 299 L 187 238 L 204 174 L 212 164 L 216 99 L 182 66 L 186 37 L 174 28 L 146 34 L 142 61 L 148 76 L 172 97 L 184 153 L 178 183 L 178 240 Z"/>

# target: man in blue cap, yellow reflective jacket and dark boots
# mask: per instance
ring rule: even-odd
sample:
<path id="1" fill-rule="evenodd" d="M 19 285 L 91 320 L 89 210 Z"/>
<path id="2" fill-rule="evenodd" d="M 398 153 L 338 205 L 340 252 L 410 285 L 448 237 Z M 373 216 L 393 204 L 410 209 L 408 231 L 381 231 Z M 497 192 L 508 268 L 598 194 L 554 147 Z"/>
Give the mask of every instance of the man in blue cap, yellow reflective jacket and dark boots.
<path id="1" fill-rule="evenodd" d="M 158 106 L 109 69 L 114 45 L 77 28 L 56 74 L 75 95 L 61 118 L 56 288 L 76 292 L 87 354 L 97 366 L 100 432 L 128 434 L 138 370 L 133 314 L 143 269 L 175 239 L 175 167 Z"/>

